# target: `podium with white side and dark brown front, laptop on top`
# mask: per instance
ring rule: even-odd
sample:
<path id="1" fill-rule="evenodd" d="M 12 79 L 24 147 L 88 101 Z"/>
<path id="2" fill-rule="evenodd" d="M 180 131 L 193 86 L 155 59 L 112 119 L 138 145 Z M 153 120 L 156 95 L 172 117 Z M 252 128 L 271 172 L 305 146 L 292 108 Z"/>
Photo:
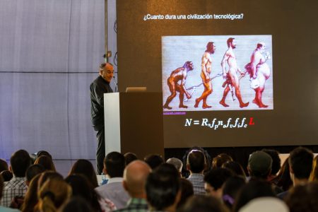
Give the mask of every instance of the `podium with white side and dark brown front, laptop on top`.
<path id="1" fill-rule="evenodd" d="M 164 157 L 162 93 L 105 93 L 105 148 Z"/>

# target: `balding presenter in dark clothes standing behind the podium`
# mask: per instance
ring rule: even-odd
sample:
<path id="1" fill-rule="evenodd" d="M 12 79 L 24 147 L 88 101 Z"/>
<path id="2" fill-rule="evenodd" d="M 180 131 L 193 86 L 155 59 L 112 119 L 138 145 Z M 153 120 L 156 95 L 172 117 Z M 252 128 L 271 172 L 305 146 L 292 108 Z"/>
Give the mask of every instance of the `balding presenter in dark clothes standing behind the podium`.
<path id="1" fill-rule="evenodd" d="M 90 114 L 93 127 L 97 131 L 98 147 L 96 163 L 98 175 L 101 175 L 105 158 L 104 93 L 112 93 L 110 81 L 114 76 L 114 67 L 110 63 L 100 64 L 98 78 L 90 84 Z"/>

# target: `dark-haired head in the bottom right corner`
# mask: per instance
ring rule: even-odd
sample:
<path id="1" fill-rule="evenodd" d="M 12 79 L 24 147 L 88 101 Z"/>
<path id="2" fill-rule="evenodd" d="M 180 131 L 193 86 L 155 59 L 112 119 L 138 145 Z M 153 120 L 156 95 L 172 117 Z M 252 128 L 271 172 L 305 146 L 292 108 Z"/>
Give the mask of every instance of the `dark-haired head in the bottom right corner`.
<path id="1" fill-rule="evenodd" d="M 290 189 L 286 196 L 286 204 L 290 212 L 317 212 L 318 211 L 318 182 L 298 184 Z"/>

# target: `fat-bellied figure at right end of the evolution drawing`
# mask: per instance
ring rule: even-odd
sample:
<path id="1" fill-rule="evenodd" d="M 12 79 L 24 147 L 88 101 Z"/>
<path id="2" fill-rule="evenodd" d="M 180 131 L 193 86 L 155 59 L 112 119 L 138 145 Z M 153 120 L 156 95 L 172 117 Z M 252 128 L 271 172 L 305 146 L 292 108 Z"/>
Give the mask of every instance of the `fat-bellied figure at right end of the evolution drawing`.
<path id="1" fill-rule="evenodd" d="M 251 56 L 251 62 L 245 66 L 245 69 L 251 77 L 251 88 L 255 90 L 255 98 L 253 103 L 261 107 L 269 107 L 264 105 L 261 101 L 262 93 L 265 90 L 265 82 L 271 76 L 271 70 L 266 64 L 267 59 L 270 59 L 269 52 L 266 52 L 264 57 L 266 46 L 264 42 L 259 42 L 257 48 L 254 50 Z"/>

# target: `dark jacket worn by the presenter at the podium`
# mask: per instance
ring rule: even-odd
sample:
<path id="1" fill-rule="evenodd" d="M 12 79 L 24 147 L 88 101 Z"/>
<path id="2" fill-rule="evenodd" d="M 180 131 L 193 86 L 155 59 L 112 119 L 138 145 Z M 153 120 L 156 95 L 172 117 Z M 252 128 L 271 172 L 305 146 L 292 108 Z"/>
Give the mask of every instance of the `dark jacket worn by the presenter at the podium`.
<path id="1" fill-rule="evenodd" d="M 104 128 L 104 93 L 112 93 L 112 88 L 102 76 L 98 76 L 90 84 L 90 115 L 96 131 Z"/>

